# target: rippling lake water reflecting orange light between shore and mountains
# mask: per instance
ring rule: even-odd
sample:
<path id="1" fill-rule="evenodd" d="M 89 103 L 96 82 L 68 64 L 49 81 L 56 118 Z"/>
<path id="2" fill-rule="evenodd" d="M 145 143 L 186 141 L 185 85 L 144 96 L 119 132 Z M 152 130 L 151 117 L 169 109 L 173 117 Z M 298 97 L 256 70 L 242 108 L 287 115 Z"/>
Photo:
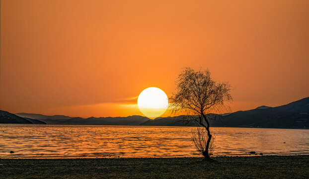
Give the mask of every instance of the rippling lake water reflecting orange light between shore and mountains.
<path id="1" fill-rule="evenodd" d="M 0 158 L 196 157 L 193 127 L 0 124 Z M 309 154 L 309 130 L 212 127 L 214 156 Z M 14 151 L 10 154 L 10 151 Z"/>

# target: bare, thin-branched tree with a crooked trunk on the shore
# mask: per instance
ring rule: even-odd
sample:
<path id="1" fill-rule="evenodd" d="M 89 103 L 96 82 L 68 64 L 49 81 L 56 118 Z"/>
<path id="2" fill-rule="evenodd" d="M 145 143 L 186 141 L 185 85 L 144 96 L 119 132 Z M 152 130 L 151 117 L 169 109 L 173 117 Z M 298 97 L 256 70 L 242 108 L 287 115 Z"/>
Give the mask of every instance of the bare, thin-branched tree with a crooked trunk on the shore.
<path id="1" fill-rule="evenodd" d="M 227 110 L 227 101 L 232 101 L 231 86 L 228 82 L 217 83 L 210 78 L 210 72 L 200 70 L 195 72 L 185 68 L 176 81 L 176 93 L 170 97 L 171 110 L 187 114 L 188 122 L 195 122 L 206 129 L 207 139 L 202 155 L 204 160 L 210 159 L 209 147 L 212 134 L 209 130 L 210 120 L 216 115 L 211 112 Z"/>

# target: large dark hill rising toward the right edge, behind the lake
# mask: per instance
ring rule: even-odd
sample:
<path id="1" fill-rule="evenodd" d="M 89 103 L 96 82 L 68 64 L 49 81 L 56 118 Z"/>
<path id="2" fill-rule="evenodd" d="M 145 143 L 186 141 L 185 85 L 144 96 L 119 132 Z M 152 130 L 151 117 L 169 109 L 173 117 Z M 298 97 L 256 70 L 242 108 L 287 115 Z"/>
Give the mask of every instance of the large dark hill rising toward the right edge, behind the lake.
<path id="1" fill-rule="evenodd" d="M 262 106 L 261 106 L 262 107 Z M 213 121 L 213 126 L 305 128 L 309 127 L 309 97 L 277 107 L 237 111 Z"/>

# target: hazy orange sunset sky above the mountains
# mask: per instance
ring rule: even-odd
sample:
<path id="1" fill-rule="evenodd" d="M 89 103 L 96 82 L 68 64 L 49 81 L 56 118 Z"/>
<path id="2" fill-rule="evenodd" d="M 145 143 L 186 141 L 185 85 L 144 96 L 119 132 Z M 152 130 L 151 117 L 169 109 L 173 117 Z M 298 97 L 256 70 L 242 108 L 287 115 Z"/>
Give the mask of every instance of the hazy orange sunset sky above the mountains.
<path id="1" fill-rule="evenodd" d="M 309 96 L 309 0 L 1 0 L 0 108 L 142 115 L 181 68 L 229 81 L 232 111 Z M 165 114 L 168 115 L 168 114 Z"/>

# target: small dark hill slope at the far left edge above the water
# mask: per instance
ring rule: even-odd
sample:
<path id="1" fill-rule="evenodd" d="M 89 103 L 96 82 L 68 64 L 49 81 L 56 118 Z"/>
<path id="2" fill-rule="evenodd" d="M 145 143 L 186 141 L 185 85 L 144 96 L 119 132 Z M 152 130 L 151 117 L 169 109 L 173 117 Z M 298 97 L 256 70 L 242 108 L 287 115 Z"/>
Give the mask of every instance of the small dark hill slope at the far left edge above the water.
<path id="1" fill-rule="evenodd" d="M 7 111 L 0 110 L 1 124 L 46 124 L 45 122 L 17 116 Z"/>

